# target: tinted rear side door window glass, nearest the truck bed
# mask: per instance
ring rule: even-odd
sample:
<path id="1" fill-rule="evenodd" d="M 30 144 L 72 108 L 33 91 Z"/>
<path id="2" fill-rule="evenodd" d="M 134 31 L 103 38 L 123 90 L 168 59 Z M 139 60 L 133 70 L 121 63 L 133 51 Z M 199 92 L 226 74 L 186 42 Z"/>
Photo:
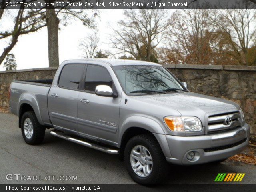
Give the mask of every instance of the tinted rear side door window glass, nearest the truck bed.
<path id="1" fill-rule="evenodd" d="M 59 85 L 65 88 L 78 89 L 84 73 L 84 64 L 68 64 L 62 69 Z"/>

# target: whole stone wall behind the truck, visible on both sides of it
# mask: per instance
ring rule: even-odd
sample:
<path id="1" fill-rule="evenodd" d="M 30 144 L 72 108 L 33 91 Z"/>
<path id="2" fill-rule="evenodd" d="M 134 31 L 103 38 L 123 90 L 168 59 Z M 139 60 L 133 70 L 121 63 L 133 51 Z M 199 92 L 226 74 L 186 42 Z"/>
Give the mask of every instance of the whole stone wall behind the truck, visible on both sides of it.
<path id="1" fill-rule="evenodd" d="M 165 65 L 192 92 L 225 98 L 241 106 L 256 133 L 256 66 Z M 0 106 L 8 106 L 12 80 L 52 79 L 57 68 L 0 72 Z"/>

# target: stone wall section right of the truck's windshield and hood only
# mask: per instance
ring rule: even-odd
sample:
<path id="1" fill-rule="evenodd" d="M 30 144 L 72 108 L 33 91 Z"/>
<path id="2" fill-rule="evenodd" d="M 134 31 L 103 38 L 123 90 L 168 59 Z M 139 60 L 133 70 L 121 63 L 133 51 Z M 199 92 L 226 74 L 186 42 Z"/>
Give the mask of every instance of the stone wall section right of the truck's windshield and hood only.
<path id="1" fill-rule="evenodd" d="M 192 92 L 236 102 L 256 133 L 256 66 L 166 65 Z"/>

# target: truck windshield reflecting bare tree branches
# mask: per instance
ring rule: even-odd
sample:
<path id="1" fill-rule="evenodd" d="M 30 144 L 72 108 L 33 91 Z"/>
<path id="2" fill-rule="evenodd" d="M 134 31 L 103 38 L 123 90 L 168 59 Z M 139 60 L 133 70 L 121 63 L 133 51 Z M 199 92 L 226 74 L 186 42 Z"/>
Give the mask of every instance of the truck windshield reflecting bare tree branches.
<path id="1" fill-rule="evenodd" d="M 176 79 L 162 66 L 126 65 L 113 69 L 127 95 L 164 94 L 183 90 Z"/>

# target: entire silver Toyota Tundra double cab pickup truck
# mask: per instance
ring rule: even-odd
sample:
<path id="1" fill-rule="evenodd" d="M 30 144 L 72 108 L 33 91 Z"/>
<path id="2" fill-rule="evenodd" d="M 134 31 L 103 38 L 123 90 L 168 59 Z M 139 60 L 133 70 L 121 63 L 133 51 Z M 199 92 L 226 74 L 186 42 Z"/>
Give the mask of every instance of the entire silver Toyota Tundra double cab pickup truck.
<path id="1" fill-rule="evenodd" d="M 192 93 L 163 66 L 136 60 L 67 60 L 53 80 L 13 81 L 10 111 L 26 143 L 54 128 L 54 136 L 119 154 L 142 184 L 159 182 L 167 162 L 221 162 L 250 134 L 237 104 Z"/>

